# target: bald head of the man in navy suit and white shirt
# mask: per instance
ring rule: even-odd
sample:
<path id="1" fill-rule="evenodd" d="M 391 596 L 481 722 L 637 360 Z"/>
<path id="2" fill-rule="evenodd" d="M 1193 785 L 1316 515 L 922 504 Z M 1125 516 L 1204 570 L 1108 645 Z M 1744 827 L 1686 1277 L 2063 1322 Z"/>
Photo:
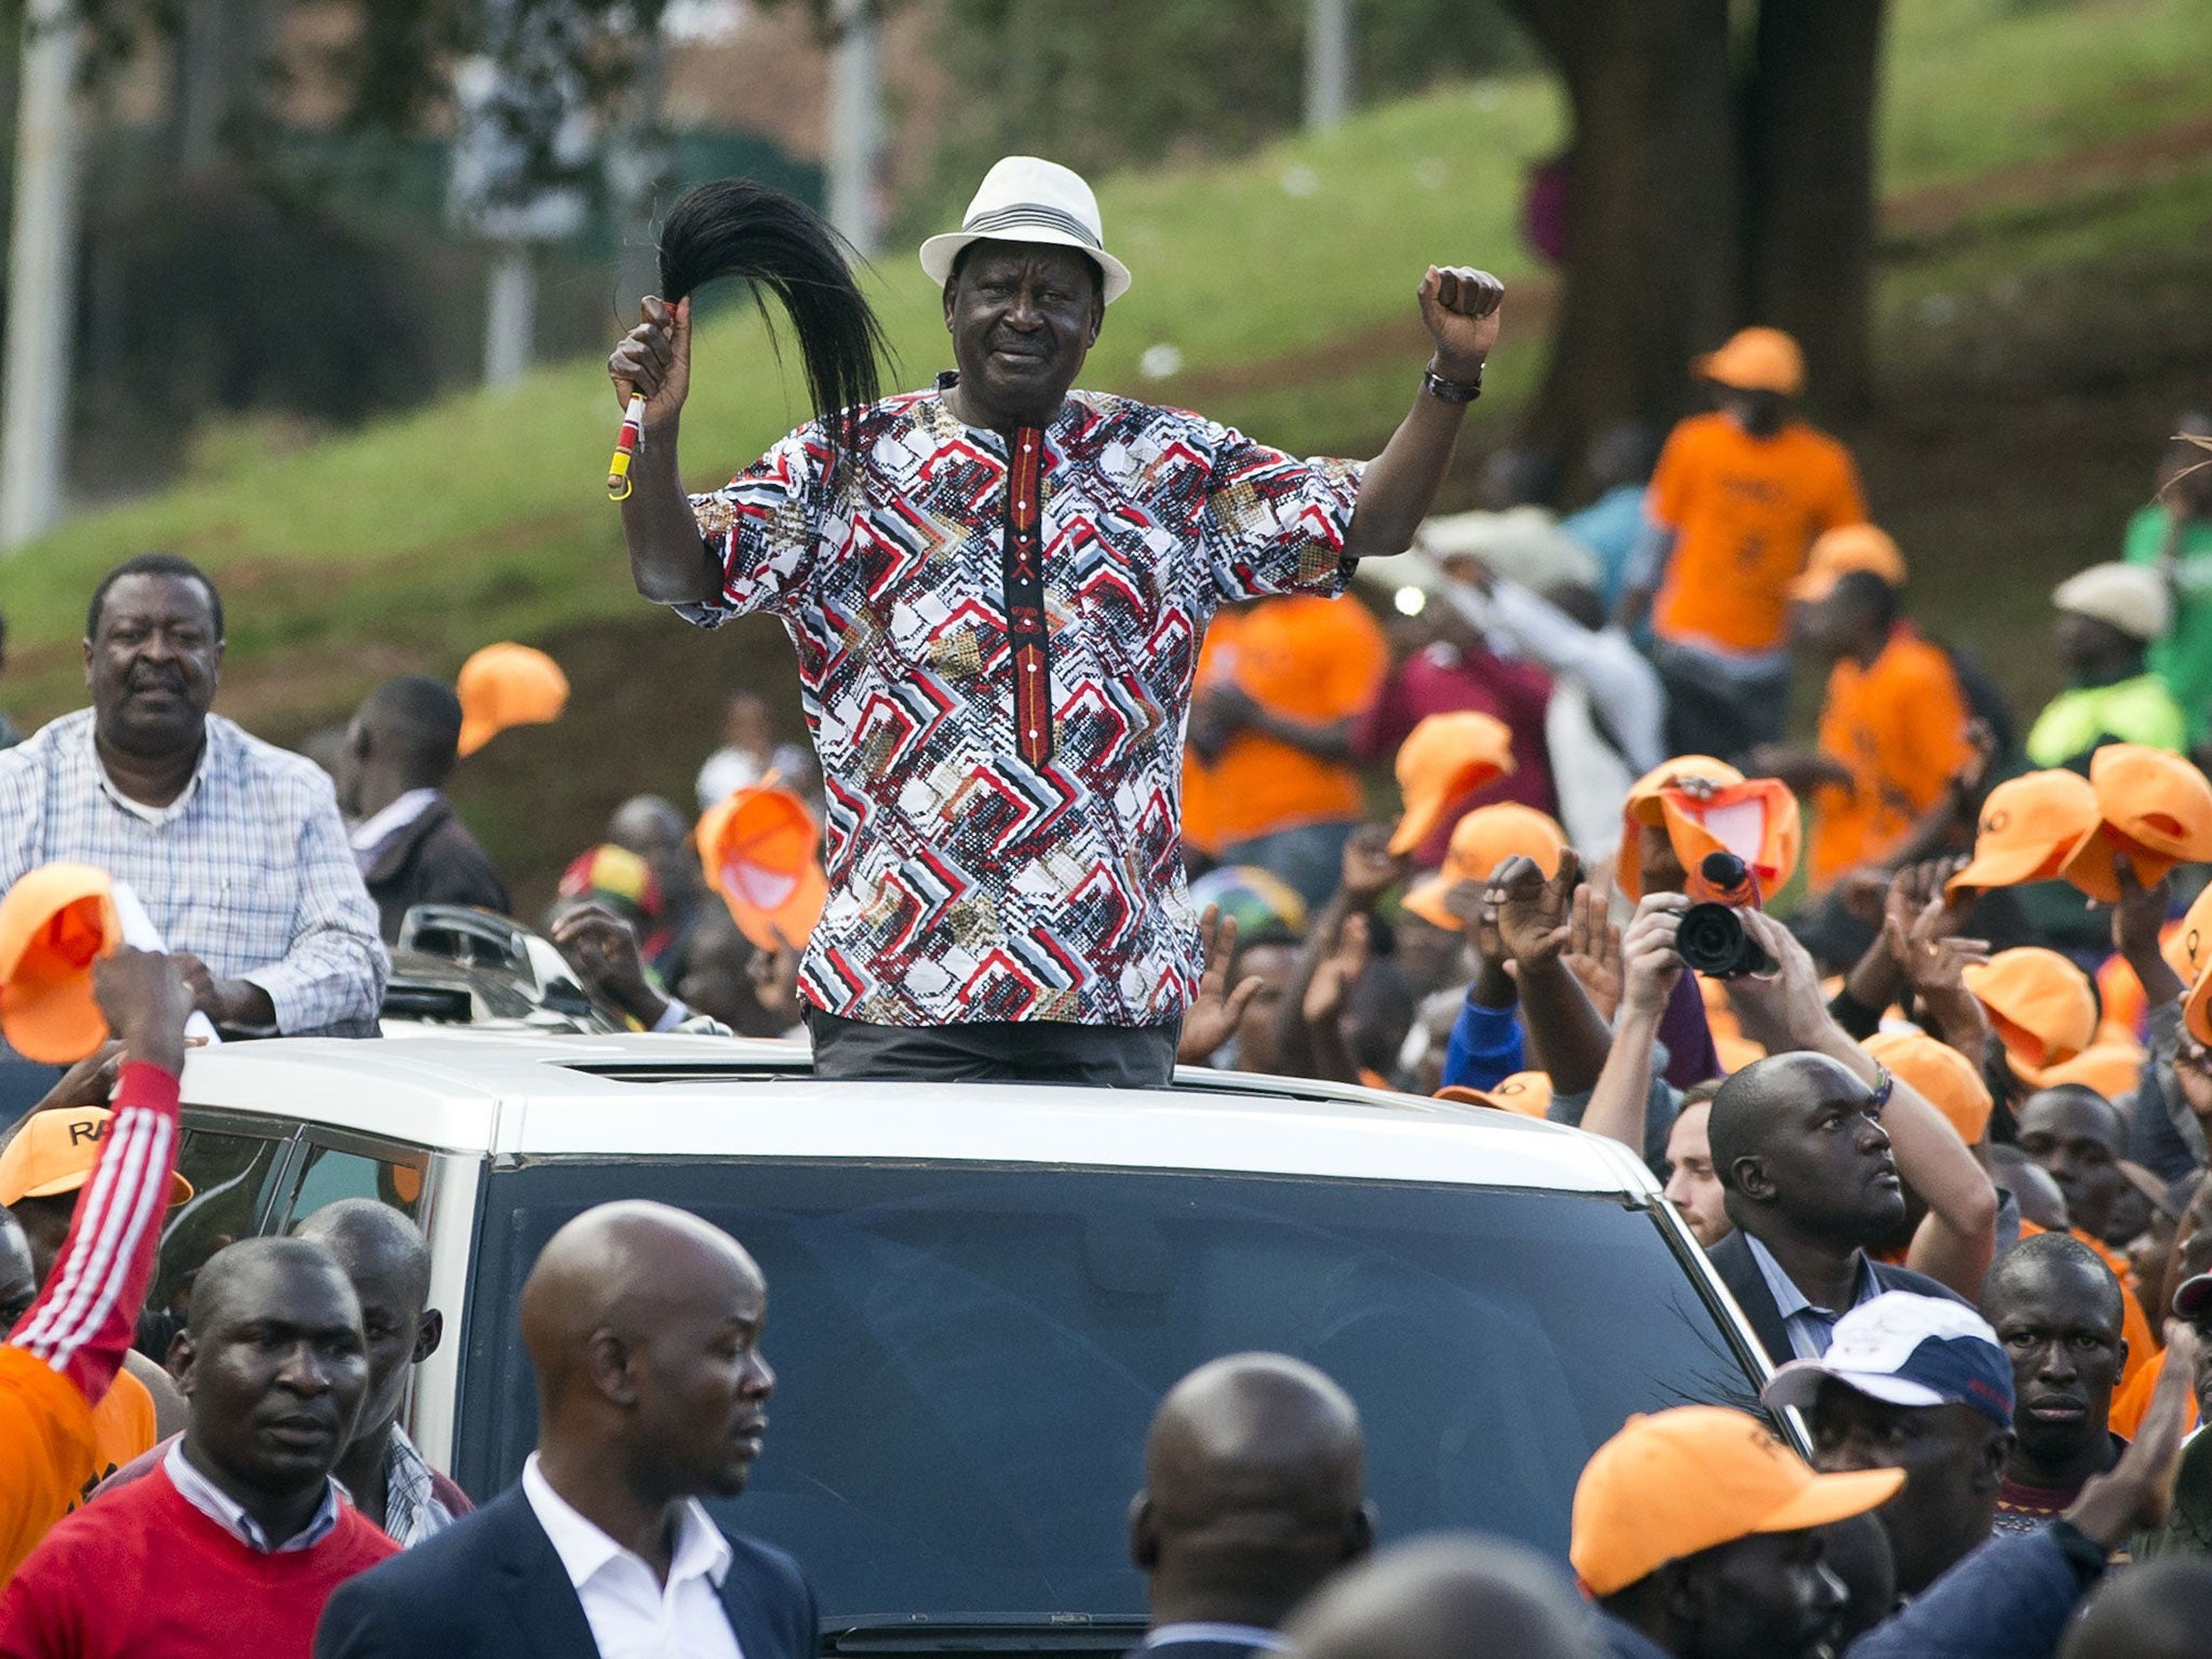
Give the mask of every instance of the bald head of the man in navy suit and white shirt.
<path id="1" fill-rule="evenodd" d="M 745 1486 L 776 1387 L 768 1281 L 743 1245 L 666 1203 L 602 1203 L 555 1232 L 522 1285 L 540 1453 L 613 1469 L 655 1504 Z"/>

